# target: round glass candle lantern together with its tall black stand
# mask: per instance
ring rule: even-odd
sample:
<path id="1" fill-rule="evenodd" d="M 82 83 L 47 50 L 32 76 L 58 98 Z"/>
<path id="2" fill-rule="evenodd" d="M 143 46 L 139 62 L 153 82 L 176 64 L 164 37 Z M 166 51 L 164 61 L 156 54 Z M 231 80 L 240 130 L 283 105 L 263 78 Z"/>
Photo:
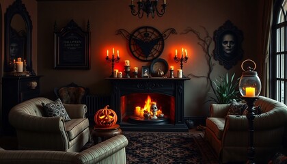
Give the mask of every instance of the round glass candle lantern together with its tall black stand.
<path id="1" fill-rule="evenodd" d="M 250 66 L 245 71 L 243 69 L 243 64 L 245 61 L 251 61 L 254 63 L 254 68 Z M 254 156 L 255 156 L 255 148 L 253 144 L 253 133 L 254 133 L 254 118 L 255 118 L 255 109 L 254 109 L 254 102 L 258 99 L 258 96 L 261 92 L 261 81 L 257 75 L 257 72 L 254 71 L 256 69 L 256 64 L 251 59 L 247 59 L 243 61 L 241 64 L 242 76 L 239 81 L 239 92 L 241 93 L 242 98 L 247 102 L 247 120 L 248 120 L 248 148 L 247 148 L 247 163 L 255 163 Z"/>

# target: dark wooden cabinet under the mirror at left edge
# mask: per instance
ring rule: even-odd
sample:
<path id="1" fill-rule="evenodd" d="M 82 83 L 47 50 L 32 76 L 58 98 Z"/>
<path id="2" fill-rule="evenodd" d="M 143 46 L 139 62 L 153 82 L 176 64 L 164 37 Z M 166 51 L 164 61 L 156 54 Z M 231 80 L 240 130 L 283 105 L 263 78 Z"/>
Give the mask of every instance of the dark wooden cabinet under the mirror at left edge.
<path id="1" fill-rule="evenodd" d="M 20 102 L 40 95 L 40 76 L 2 78 L 2 130 L 3 134 L 13 134 L 9 123 L 9 111 Z"/>

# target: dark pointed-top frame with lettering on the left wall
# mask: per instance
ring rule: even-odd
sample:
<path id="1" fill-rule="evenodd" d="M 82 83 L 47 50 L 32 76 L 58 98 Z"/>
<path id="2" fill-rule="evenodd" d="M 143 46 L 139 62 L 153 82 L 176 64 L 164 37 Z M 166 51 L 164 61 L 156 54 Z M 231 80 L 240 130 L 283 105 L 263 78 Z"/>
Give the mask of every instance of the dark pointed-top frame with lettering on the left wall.
<path id="1" fill-rule="evenodd" d="M 90 23 L 83 31 L 74 20 L 57 32 L 54 32 L 54 68 L 90 69 Z"/>

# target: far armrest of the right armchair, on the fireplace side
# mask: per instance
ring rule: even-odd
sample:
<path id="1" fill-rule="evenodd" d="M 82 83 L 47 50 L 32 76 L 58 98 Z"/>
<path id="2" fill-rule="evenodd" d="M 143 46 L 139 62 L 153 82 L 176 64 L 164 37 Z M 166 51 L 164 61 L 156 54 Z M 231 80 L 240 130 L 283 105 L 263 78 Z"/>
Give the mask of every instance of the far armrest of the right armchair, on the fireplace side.
<path id="1" fill-rule="evenodd" d="M 211 104 L 210 118 L 224 118 L 228 113 L 230 104 Z"/>

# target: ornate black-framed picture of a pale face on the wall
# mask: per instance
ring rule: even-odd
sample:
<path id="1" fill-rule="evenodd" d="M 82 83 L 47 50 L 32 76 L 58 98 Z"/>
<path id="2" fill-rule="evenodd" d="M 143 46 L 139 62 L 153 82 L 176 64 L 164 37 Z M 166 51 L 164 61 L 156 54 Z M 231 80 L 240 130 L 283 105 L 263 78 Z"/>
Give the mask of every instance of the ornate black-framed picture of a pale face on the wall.
<path id="1" fill-rule="evenodd" d="M 235 27 L 230 20 L 214 32 L 215 50 L 213 51 L 215 60 L 226 69 L 235 66 L 238 60 L 243 58 L 243 32 Z"/>

